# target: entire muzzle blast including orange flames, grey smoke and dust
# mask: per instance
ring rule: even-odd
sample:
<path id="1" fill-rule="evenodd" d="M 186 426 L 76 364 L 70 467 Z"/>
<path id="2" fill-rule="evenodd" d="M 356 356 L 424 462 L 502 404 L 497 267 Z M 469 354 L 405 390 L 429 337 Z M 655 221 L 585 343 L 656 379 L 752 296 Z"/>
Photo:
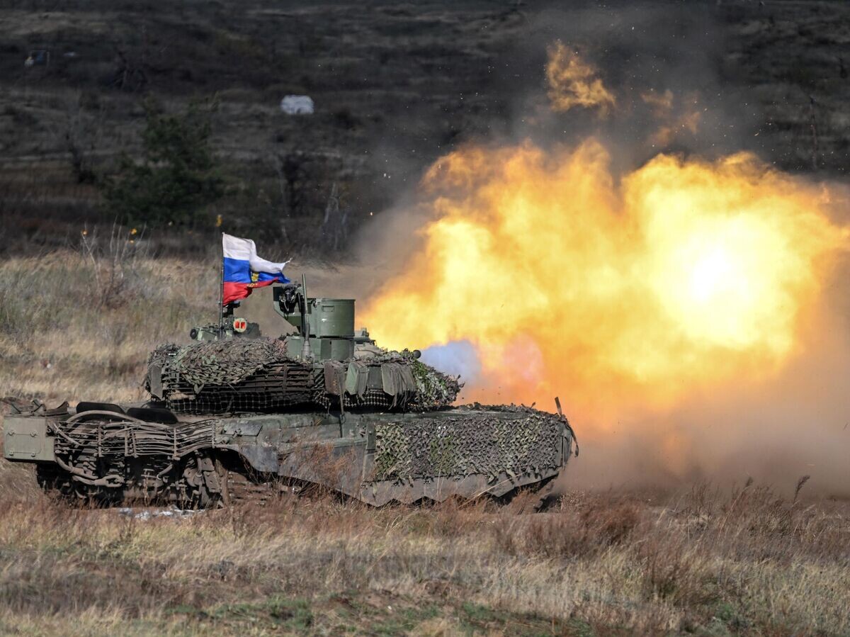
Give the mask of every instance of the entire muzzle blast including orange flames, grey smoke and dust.
<path id="1" fill-rule="evenodd" d="M 579 5 L 534 33 L 517 58 L 536 68 L 541 37 L 563 43 L 545 106 L 530 82 L 516 97 L 533 141 L 428 170 L 390 219 L 382 259 L 420 230 L 370 291 L 373 335 L 475 370 L 465 401 L 560 396 L 586 452 L 570 484 L 811 474 L 850 492 L 847 293 L 830 288 L 847 191 L 735 152 L 762 145 L 762 117 L 723 90 L 708 9 Z"/>

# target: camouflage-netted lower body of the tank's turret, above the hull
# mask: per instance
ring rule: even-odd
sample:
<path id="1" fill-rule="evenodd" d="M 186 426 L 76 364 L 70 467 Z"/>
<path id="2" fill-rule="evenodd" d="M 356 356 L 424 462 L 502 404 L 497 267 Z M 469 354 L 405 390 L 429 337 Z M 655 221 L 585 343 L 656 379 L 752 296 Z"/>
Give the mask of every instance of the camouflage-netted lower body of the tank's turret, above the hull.
<path id="1" fill-rule="evenodd" d="M 348 361 L 305 363 L 286 342 L 233 338 L 151 353 L 145 384 L 176 412 L 268 412 L 313 403 L 325 409 L 427 411 L 448 407 L 458 379 L 404 352 L 377 350 Z"/>

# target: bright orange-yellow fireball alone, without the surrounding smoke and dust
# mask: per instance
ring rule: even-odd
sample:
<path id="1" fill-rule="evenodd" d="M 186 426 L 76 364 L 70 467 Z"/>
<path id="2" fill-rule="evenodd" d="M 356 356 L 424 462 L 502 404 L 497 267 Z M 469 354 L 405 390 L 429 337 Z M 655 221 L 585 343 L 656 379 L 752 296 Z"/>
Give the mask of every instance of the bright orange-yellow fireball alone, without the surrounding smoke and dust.
<path id="1" fill-rule="evenodd" d="M 617 179 L 593 139 L 469 147 L 422 193 L 424 247 L 365 310 L 378 341 L 465 339 L 467 399 L 597 413 L 774 374 L 847 236 L 815 186 L 745 153 Z"/>

